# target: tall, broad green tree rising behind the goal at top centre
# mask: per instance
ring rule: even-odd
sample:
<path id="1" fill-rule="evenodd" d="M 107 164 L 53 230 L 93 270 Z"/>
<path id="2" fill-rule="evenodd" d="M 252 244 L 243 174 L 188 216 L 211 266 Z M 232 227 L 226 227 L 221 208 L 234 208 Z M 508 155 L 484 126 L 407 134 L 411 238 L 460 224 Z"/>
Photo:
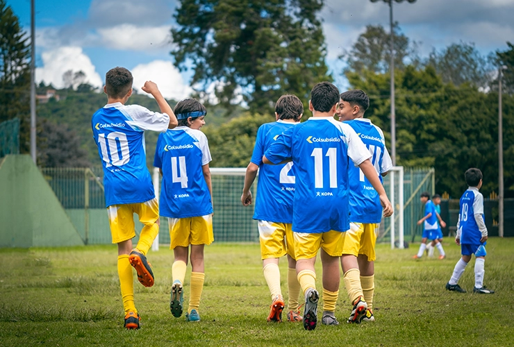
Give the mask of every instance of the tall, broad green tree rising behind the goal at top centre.
<path id="1" fill-rule="evenodd" d="M 191 85 L 230 105 L 236 94 L 256 112 L 272 112 L 281 94 L 306 104 L 312 86 L 330 80 L 319 14 L 323 0 L 181 0 L 172 28 L 175 65 L 192 67 Z"/>

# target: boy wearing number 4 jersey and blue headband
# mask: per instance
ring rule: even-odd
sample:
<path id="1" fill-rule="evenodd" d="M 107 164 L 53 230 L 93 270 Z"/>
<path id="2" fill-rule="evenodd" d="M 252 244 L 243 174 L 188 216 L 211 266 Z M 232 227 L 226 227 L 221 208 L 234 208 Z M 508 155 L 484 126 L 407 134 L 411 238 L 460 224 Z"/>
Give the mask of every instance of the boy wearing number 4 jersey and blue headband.
<path id="1" fill-rule="evenodd" d="M 210 151 L 207 137 L 192 128 L 204 124 L 204 105 L 195 99 L 176 104 L 179 126 L 160 134 L 154 166 L 163 175 L 160 215 L 168 217 L 170 249 L 173 249 L 172 294 L 169 309 L 175 317 L 183 312 L 183 283 L 189 246 L 192 273 L 187 321 L 199 321 L 204 289 L 204 246 L 214 241 Z"/>

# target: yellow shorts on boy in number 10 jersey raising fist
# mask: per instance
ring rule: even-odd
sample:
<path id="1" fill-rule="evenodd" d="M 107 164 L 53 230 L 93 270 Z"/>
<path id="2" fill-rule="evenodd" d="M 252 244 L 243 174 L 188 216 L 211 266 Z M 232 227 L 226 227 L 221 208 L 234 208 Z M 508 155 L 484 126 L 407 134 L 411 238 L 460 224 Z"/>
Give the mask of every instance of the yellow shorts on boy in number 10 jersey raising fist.
<path id="1" fill-rule="evenodd" d="M 145 226 L 154 224 L 159 219 L 159 204 L 157 198 L 144 203 L 127 203 L 110 205 L 107 208 L 109 216 L 110 235 L 113 244 L 119 244 L 135 237 L 134 213 Z"/>

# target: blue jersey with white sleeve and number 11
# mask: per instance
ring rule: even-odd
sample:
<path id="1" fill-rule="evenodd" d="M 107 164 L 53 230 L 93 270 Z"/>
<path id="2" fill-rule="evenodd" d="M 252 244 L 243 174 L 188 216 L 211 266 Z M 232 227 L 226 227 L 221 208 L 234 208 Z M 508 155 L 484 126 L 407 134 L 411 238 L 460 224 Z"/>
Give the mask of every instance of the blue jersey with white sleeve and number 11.
<path id="1" fill-rule="evenodd" d="M 371 158 L 351 126 L 333 117 L 310 117 L 279 135 L 265 156 L 274 164 L 288 158 L 294 164 L 293 231 L 349 229 L 349 159 L 359 165 Z"/>

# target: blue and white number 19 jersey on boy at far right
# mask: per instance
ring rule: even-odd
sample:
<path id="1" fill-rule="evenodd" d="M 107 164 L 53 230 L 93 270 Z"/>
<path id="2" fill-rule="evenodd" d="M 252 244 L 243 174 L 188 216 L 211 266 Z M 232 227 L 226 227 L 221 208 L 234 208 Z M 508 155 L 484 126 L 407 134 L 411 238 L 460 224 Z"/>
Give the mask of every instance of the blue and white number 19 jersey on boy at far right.
<path id="1" fill-rule="evenodd" d="M 461 244 L 480 244 L 482 233 L 476 224 L 475 215 L 483 219 L 483 196 L 476 187 L 469 187 L 461 197 L 461 209 L 458 212 L 458 234 Z"/>

